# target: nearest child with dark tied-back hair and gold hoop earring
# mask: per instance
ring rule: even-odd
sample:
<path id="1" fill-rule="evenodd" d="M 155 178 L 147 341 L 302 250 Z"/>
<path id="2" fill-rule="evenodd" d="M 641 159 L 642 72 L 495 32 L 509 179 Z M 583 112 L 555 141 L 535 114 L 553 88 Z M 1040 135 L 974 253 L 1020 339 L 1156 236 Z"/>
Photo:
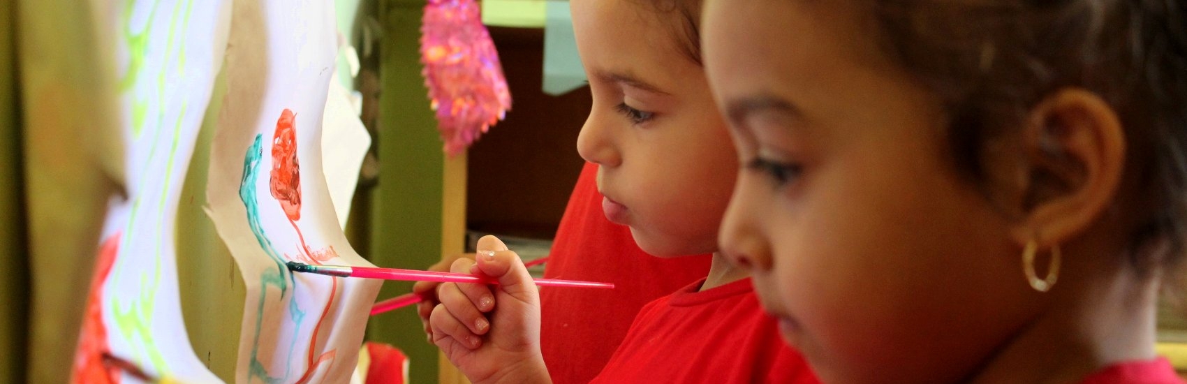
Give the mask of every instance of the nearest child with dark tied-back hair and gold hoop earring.
<path id="1" fill-rule="evenodd" d="M 1185 12 L 710 1 L 722 251 L 826 383 L 1182 383 Z"/>

